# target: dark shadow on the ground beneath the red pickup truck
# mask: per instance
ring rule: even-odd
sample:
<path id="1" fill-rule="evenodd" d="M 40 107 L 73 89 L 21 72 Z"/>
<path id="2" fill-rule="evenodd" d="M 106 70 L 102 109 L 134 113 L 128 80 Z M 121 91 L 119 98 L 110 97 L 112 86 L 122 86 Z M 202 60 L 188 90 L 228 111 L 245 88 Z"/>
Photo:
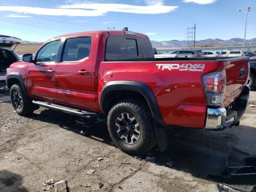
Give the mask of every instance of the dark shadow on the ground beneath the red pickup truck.
<path id="1" fill-rule="evenodd" d="M 92 128 L 77 123 L 79 117 L 42 110 L 40 114 L 30 116 L 35 120 L 57 124 L 61 128 L 89 137 L 93 140 L 114 146 L 108 134 L 106 120 L 96 120 Z M 250 137 L 241 137 L 246 132 Z M 174 162 L 173 169 L 192 174 L 197 178 L 207 179 L 206 174 L 220 174 L 226 162 L 230 147 L 235 147 L 249 154 L 256 154 L 256 128 L 250 126 L 235 127 L 222 132 L 197 130 L 191 128 L 168 129 L 168 148 L 164 152 L 154 151 L 155 164 L 166 165 L 166 158 Z M 238 146 L 238 147 L 237 147 Z"/>

